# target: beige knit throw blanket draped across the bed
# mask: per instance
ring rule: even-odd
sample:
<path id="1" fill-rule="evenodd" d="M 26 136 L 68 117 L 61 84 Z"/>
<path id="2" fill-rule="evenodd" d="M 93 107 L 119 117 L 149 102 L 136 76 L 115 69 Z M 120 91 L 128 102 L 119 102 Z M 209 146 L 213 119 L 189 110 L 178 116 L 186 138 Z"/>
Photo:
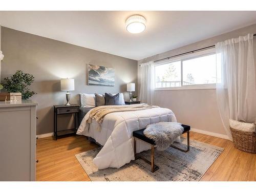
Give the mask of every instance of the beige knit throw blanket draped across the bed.
<path id="1" fill-rule="evenodd" d="M 152 108 L 159 108 L 159 106 L 142 104 L 132 104 L 132 105 L 102 105 L 97 106 L 92 109 L 89 113 L 84 116 L 87 123 L 91 123 L 92 119 L 95 119 L 99 124 L 102 123 L 104 117 L 110 113 L 114 112 L 125 112 L 125 111 L 139 111 L 147 110 Z M 100 125 L 98 126 L 98 131 L 101 131 Z"/>

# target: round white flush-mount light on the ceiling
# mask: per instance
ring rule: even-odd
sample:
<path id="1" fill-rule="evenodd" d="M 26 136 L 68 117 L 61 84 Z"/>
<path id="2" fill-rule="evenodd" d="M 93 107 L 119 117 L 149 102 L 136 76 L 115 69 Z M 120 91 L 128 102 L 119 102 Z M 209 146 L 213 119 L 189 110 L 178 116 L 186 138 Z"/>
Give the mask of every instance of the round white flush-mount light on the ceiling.
<path id="1" fill-rule="evenodd" d="M 130 33 L 141 33 L 146 28 L 146 19 L 141 15 L 132 15 L 126 19 L 125 24 Z"/>

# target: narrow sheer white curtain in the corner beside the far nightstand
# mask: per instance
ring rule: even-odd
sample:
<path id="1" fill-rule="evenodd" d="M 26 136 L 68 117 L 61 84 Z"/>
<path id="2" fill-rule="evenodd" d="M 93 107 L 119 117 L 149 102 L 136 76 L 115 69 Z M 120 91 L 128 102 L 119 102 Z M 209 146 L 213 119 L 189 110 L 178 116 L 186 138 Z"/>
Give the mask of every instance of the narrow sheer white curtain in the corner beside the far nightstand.
<path id="1" fill-rule="evenodd" d="M 155 104 L 155 67 L 153 61 L 141 64 L 139 98 L 143 103 Z"/>

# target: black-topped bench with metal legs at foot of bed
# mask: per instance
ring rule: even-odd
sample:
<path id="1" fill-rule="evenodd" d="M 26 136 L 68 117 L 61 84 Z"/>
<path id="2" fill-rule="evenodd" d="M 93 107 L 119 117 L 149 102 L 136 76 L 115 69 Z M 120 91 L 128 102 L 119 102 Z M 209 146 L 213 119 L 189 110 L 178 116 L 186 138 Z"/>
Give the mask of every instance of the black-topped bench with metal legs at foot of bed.
<path id="1" fill-rule="evenodd" d="M 182 134 L 187 133 L 187 148 L 186 148 L 186 150 L 184 150 L 184 149 L 182 149 L 180 147 L 177 147 L 175 145 L 170 145 L 170 146 L 172 146 L 174 148 L 177 148 L 180 151 L 188 152 L 189 151 L 189 130 L 190 130 L 190 126 L 189 125 L 184 125 L 184 124 L 182 124 L 181 126 L 183 126 L 183 128 L 184 128 L 184 131 L 183 131 Z M 154 140 L 147 138 L 143 134 L 144 130 L 145 129 L 133 132 L 133 137 L 134 137 L 134 157 L 135 157 L 135 159 L 139 159 L 140 158 L 140 159 L 144 160 L 146 163 L 151 164 L 151 172 L 155 172 L 157 169 L 159 169 L 159 167 L 157 165 L 155 165 L 155 162 L 154 162 L 154 160 L 155 160 L 155 145 L 156 145 L 156 143 L 155 143 Z M 143 157 L 137 157 L 136 156 L 136 140 L 137 139 L 151 145 L 151 162 L 148 161 L 147 159 L 143 158 Z"/>

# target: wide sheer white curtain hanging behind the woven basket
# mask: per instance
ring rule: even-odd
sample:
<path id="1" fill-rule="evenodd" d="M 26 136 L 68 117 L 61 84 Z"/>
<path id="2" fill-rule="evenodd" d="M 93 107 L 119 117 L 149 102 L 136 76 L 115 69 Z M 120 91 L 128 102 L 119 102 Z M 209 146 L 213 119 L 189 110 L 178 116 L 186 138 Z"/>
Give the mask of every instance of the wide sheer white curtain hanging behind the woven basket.
<path id="1" fill-rule="evenodd" d="M 253 34 L 218 42 L 215 46 L 218 108 L 231 140 L 229 119 L 256 122 Z"/>

